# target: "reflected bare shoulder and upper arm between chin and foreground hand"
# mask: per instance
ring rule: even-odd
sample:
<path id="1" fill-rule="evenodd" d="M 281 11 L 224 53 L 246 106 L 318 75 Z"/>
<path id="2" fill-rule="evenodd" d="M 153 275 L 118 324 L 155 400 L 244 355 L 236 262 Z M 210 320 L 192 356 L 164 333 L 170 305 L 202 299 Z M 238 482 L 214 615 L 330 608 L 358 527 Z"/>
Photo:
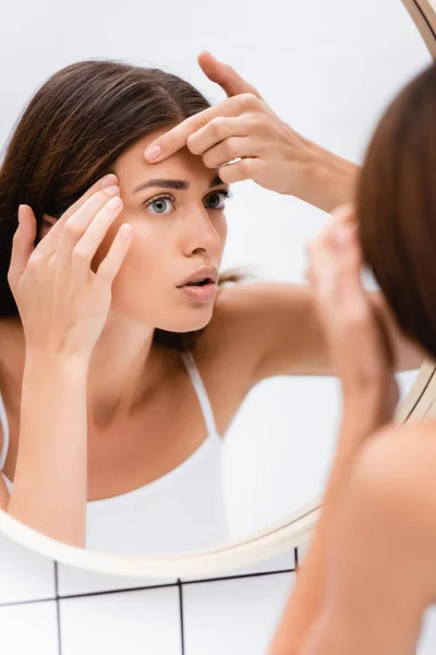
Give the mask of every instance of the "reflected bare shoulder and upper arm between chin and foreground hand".
<path id="1" fill-rule="evenodd" d="M 308 285 L 250 282 L 223 287 L 205 333 L 205 343 L 234 356 L 253 384 L 274 376 L 330 373 Z"/>

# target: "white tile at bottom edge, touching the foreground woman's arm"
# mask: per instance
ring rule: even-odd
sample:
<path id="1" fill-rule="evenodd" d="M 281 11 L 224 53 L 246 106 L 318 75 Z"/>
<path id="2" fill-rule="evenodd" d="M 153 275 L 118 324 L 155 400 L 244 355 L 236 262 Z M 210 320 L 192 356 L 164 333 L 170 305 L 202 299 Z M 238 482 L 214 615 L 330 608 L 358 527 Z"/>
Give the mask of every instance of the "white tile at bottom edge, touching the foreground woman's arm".
<path id="1" fill-rule="evenodd" d="M 186 655 L 265 655 L 294 573 L 183 585 Z"/>

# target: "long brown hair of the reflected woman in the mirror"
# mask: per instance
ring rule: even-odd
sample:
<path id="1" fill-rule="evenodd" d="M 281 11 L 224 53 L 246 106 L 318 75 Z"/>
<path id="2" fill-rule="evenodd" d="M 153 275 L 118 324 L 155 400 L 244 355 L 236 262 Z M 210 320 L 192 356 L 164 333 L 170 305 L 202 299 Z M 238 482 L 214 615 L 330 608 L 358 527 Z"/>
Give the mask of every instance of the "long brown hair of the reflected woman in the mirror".
<path id="1" fill-rule="evenodd" d="M 0 318 L 19 315 L 8 283 L 19 205 L 28 204 L 35 213 L 36 246 L 44 214 L 59 218 L 99 178 L 113 172 L 118 158 L 140 139 L 208 107 L 181 78 L 114 60 L 73 63 L 36 91 L 0 168 Z M 221 274 L 218 285 L 243 277 L 234 269 Z M 193 349 L 203 330 L 156 329 L 154 343 Z"/>

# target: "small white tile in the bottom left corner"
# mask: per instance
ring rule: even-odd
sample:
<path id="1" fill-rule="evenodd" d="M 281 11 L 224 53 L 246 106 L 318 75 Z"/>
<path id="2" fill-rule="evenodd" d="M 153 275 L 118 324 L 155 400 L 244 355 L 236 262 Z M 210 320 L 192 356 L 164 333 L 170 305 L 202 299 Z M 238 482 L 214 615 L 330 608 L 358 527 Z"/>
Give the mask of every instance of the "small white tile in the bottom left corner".
<path id="1" fill-rule="evenodd" d="M 8 655 L 58 655 L 56 600 L 0 607 L 0 640 Z"/>

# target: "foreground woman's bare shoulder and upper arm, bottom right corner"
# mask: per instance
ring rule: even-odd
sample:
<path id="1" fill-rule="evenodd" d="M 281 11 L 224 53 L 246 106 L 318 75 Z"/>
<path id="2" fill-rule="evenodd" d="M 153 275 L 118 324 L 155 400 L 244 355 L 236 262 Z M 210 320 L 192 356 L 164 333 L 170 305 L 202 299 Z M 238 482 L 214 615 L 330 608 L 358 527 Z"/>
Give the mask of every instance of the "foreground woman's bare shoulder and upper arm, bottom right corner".
<path id="1" fill-rule="evenodd" d="M 337 508 L 323 609 L 299 655 L 412 655 L 436 597 L 435 422 L 375 434 Z"/>

